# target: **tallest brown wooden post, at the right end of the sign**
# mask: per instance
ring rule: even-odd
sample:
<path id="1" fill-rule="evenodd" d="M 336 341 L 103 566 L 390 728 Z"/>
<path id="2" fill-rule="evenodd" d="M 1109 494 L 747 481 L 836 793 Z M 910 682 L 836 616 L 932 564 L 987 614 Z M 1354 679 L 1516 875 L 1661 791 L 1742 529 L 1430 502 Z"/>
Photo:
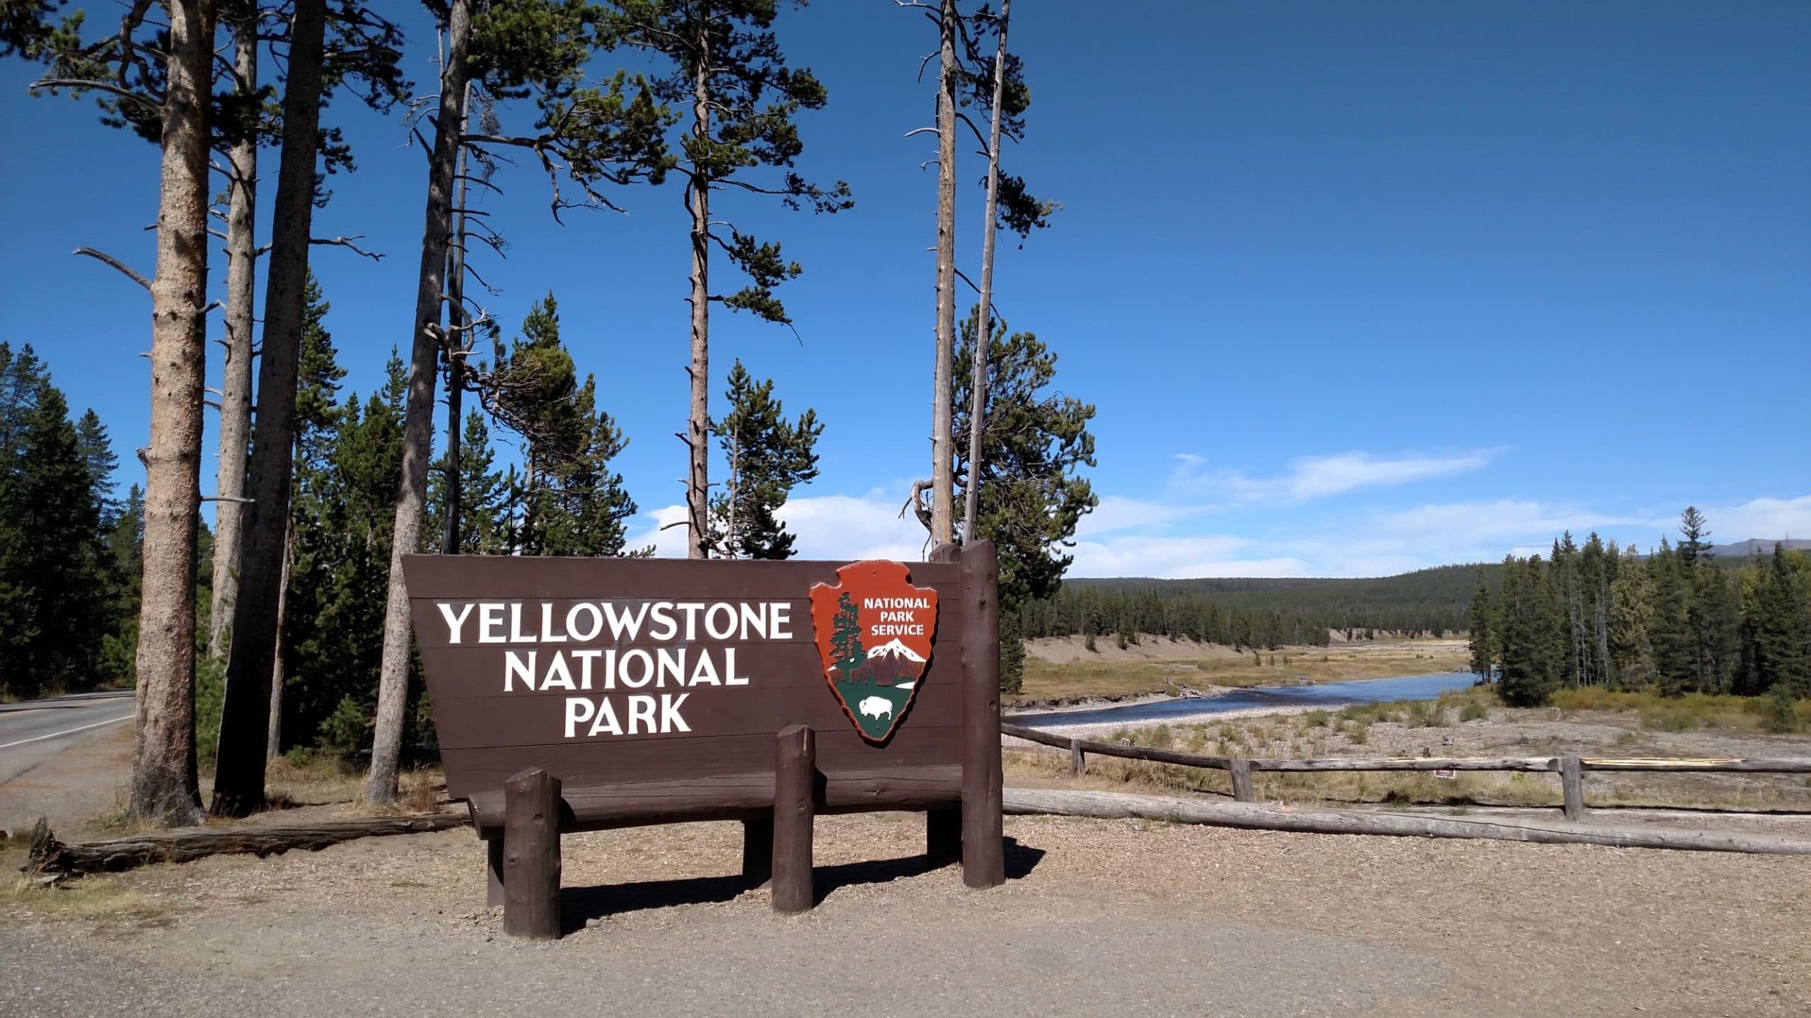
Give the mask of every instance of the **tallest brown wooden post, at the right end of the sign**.
<path id="1" fill-rule="evenodd" d="M 1007 882 L 1000 773 L 1000 560 L 992 542 L 962 549 L 962 882 Z"/>

